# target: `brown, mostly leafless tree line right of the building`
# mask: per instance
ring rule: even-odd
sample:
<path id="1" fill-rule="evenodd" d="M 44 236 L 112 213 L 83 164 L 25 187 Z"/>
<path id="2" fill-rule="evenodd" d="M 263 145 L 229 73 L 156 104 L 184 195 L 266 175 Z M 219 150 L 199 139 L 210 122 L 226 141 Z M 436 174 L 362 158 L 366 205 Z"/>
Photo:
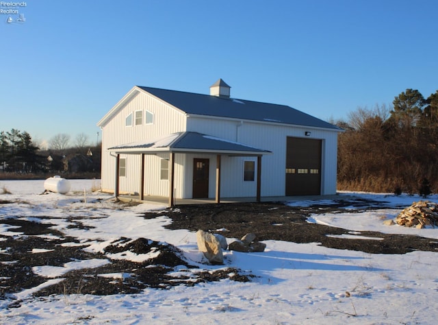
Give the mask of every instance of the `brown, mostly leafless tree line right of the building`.
<path id="1" fill-rule="evenodd" d="M 407 89 L 393 105 L 357 108 L 338 141 L 338 188 L 391 193 L 438 192 L 438 91 Z M 425 189 L 426 187 L 426 189 Z"/>

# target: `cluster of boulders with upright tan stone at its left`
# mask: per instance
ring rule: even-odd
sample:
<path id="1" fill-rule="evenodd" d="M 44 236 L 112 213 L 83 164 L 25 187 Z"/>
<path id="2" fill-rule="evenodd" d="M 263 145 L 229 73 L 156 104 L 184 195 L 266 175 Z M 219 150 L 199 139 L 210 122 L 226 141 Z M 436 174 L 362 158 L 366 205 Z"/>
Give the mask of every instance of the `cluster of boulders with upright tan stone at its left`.
<path id="1" fill-rule="evenodd" d="M 222 234 L 211 234 L 204 230 L 196 232 L 198 250 L 203 252 L 205 258 L 212 264 L 223 264 L 224 256 L 222 250 L 235 250 L 236 252 L 263 252 L 265 243 L 256 241 L 255 234 L 246 234 L 242 239 L 233 241 L 229 245 Z"/>

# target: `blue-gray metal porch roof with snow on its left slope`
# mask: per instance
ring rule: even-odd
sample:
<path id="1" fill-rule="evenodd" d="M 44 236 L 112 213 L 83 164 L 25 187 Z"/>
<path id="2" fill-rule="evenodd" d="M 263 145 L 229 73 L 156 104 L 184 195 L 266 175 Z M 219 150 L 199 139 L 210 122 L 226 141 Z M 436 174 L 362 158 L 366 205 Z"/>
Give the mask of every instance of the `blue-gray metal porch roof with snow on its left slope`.
<path id="1" fill-rule="evenodd" d="M 198 132 L 177 132 L 156 139 L 117 145 L 108 149 L 118 154 L 208 152 L 236 156 L 260 156 L 271 153 L 268 150 L 250 147 L 242 143 L 208 136 Z"/>

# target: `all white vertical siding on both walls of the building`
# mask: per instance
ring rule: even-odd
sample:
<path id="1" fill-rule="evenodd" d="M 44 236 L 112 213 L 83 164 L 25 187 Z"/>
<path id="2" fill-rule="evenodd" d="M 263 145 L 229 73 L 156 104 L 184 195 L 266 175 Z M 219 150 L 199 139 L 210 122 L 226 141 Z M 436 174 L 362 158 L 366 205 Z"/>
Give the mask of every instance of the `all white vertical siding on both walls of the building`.
<path id="1" fill-rule="evenodd" d="M 142 123 L 136 125 L 136 111 L 142 112 Z M 153 123 L 146 123 L 146 111 L 153 115 Z M 205 113 L 208 114 L 208 108 Z M 132 125 L 125 121 L 132 114 Z M 261 158 L 261 196 L 284 196 L 286 188 L 286 154 L 289 137 L 321 141 L 320 193 L 336 193 L 337 133 L 338 129 L 289 125 L 275 121 L 253 121 L 209 115 L 186 114 L 142 88 L 133 87 L 110 112 L 101 119 L 102 190 L 114 193 L 116 154 L 107 148 L 146 141 L 175 132 L 198 132 L 227 141 L 241 143 L 272 154 Z M 310 132 L 307 136 L 306 132 Z M 142 155 L 120 154 L 126 159 L 126 176 L 118 178 L 120 194 L 138 195 L 141 189 Z M 162 159 L 169 154 L 145 155 L 144 195 L 169 195 L 169 181 L 161 179 Z M 216 154 L 175 154 L 175 198 L 191 198 L 193 193 L 194 158 L 209 159 L 208 196 L 216 195 Z M 244 180 L 244 162 L 255 162 L 255 179 Z M 257 157 L 229 156 L 221 158 L 221 197 L 255 197 L 257 192 Z"/>

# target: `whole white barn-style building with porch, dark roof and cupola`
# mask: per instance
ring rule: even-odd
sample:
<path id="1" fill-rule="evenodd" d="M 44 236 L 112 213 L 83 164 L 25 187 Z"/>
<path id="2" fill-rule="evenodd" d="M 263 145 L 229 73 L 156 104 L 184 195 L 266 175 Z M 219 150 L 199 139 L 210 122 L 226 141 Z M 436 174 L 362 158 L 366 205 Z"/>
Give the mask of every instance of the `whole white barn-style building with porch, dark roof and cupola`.
<path id="1" fill-rule="evenodd" d="M 105 192 L 175 198 L 336 193 L 341 129 L 284 105 L 134 86 L 97 124 Z"/>

